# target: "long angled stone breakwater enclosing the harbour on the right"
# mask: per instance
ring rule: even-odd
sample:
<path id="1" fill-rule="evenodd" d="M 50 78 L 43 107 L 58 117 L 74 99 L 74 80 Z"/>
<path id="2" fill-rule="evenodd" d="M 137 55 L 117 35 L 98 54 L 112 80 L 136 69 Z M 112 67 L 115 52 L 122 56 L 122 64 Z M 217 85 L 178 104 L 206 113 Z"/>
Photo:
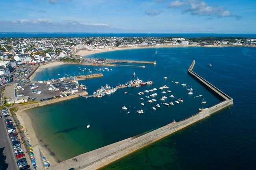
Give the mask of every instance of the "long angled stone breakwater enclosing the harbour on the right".
<path id="1" fill-rule="evenodd" d="M 205 119 L 213 113 L 219 112 L 220 110 L 232 106 L 233 99 L 223 93 L 221 90 L 204 80 L 202 77 L 193 72 L 195 61 L 192 62 L 188 69 L 188 73 L 198 81 L 202 82 L 206 88 L 210 88 L 211 92 L 219 95 L 224 101 L 211 106 L 210 108 L 204 108 L 202 112 L 196 113 L 184 120 L 167 124 L 161 128 L 148 132 L 146 134 L 136 135 L 129 137 L 122 141 L 109 144 L 102 148 L 78 155 L 61 163 L 51 166 L 50 170 L 64 170 L 74 168 L 75 170 L 95 170 L 102 168 L 103 166 L 112 163 L 136 150 L 139 150 L 149 144 L 152 144 L 168 135 L 171 135 L 178 130 L 186 128 L 187 126 L 194 124 L 202 119 Z"/>

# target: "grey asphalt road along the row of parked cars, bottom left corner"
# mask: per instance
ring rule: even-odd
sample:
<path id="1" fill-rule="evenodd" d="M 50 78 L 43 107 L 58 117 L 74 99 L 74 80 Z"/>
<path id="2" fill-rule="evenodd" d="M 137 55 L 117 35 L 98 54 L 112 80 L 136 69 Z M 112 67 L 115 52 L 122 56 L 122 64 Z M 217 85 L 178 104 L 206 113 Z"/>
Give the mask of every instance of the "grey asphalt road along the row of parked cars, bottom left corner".
<path id="1" fill-rule="evenodd" d="M 2 113 L 0 114 L 2 115 Z M 6 131 L 4 117 L 0 119 L 0 148 L 4 148 L 4 155 L 6 156 L 5 161 L 6 164 L 8 164 L 7 169 L 4 168 L 3 170 L 18 170 L 11 142 Z"/>

